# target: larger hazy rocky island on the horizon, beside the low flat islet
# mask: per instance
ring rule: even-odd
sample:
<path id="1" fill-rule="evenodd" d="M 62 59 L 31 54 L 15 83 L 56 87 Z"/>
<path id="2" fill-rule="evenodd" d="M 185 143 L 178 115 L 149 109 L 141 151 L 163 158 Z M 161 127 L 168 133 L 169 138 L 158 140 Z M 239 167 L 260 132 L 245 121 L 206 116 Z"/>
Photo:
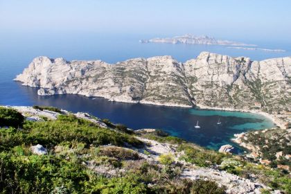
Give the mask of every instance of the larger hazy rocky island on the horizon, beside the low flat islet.
<path id="1" fill-rule="evenodd" d="M 153 38 L 141 39 L 141 43 L 169 43 L 169 44 L 216 44 L 216 45 L 230 45 L 230 46 L 256 46 L 255 44 L 245 44 L 242 42 L 233 42 L 229 40 L 215 39 L 206 35 L 196 36 L 186 34 L 182 36 L 166 37 L 166 38 Z"/>

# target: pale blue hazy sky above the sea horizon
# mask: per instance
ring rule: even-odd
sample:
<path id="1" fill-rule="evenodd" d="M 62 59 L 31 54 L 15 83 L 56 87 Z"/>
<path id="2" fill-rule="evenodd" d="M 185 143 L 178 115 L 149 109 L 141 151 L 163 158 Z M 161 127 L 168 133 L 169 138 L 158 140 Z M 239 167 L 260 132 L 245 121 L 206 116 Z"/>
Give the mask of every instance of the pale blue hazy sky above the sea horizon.
<path id="1" fill-rule="evenodd" d="M 0 0 L 0 30 L 283 40 L 290 8 L 290 0 Z"/>

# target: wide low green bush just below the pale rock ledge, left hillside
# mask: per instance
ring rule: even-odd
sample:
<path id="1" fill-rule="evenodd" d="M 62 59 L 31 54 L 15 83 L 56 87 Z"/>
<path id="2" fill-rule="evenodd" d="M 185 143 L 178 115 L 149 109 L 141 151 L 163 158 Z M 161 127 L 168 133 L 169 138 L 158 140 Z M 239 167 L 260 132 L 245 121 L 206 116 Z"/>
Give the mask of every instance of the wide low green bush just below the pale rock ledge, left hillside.
<path id="1" fill-rule="evenodd" d="M 73 116 L 60 116 L 57 121 L 28 122 L 24 130 L 30 131 L 26 143 L 41 144 L 52 148 L 64 141 L 85 143 L 89 145 L 122 146 L 143 145 L 141 141 L 128 134 L 114 132 L 106 128 L 96 127 L 94 123 Z"/>

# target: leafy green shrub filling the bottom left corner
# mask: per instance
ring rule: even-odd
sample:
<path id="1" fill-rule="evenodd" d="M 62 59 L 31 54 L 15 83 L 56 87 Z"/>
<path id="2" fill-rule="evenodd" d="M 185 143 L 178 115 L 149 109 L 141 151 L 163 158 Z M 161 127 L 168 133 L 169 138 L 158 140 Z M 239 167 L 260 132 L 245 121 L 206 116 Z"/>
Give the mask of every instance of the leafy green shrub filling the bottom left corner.
<path id="1" fill-rule="evenodd" d="M 19 157 L 4 152 L 0 153 L 0 177 L 0 193 L 50 193 L 62 185 L 70 193 L 80 193 L 89 179 L 85 168 L 75 162 L 49 155 Z"/>

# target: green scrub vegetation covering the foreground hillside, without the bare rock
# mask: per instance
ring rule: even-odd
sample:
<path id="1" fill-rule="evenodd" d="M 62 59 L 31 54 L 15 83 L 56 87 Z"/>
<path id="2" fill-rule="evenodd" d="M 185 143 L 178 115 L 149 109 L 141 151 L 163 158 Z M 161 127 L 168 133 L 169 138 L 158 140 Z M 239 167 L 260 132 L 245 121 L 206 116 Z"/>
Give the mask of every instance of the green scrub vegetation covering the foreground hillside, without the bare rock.
<path id="1" fill-rule="evenodd" d="M 205 150 L 156 131 L 128 132 L 124 125 L 106 121 L 100 127 L 72 114 L 51 121 L 24 121 L 14 109 L 0 107 L 0 193 L 225 193 L 210 180 L 180 177 L 183 166 L 173 155 L 161 155 L 159 164 L 143 159 L 131 148 L 143 148 L 135 136 L 178 145 L 181 161 L 196 166 L 218 166 L 241 177 L 256 175 L 261 182 L 291 192 L 290 175 L 239 157 Z M 41 144 L 46 155 L 35 155 Z"/>

